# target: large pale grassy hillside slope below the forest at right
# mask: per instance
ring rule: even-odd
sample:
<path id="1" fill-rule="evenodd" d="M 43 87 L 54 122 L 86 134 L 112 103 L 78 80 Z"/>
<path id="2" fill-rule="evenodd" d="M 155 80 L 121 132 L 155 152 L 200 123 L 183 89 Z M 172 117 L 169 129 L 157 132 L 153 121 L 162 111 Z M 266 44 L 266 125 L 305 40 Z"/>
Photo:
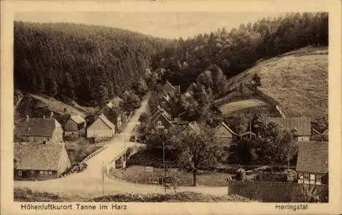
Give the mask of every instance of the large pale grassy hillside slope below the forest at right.
<path id="1" fill-rule="evenodd" d="M 328 48 L 305 47 L 276 58 L 261 60 L 244 73 L 228 79 L 226 99 L 239 87 L 261 77 L 259 90 L 276 100 L 285 116 L 328 116 Z"/>

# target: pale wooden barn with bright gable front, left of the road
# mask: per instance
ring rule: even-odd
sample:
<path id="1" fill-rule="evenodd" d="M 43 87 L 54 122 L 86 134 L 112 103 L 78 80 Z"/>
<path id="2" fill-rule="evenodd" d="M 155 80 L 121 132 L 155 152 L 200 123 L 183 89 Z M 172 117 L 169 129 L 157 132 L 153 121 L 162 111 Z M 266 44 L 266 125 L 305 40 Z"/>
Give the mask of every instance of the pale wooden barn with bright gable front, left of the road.
<path id="1" fill-rule="evenodd" d="M 87 138 L 112 138 L 115 134 L 115 125 L 101 114 L 87 129 Z"/>

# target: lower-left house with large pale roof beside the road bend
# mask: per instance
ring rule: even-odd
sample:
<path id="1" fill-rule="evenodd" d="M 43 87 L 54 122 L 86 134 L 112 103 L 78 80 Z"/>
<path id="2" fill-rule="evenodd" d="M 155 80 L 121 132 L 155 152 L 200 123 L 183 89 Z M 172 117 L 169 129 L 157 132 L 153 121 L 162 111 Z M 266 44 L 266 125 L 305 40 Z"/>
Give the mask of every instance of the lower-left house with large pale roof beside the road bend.
<path id="1" fill-rule="evenodd" d="M 14 143 L 14 179 L 46 180 L 71 167 L 64 142 Z"/>

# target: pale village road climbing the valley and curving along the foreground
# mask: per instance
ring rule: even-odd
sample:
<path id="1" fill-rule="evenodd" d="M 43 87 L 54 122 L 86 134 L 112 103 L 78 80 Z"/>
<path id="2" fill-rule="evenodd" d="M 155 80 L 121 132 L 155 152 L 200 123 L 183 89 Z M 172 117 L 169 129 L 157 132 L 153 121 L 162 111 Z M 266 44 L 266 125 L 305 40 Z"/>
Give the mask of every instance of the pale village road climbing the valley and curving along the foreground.
<path id="1" fill-rule="evenodd" d="M 88 168 L 82 173 L 75 173 L 67 177 L 52 179 L 47 181 L 14 181 L 17 188 L 31 188 L 41 192 L 56 192 L 68 195 L 77 195 L 79 197 L 99 197 L 103 194 L 116 194 L 122 192 L 133 193 L 162 193 L 163 188 L 145 185 L 131 184 L 125 181 L 118 181 L 103 175 L 102 166 L 108 164 L 114 157 L 121 153 L 124 147 L 132 147 L 135 143 L 129 142 L 132 131 L 137 124 L 138 118 L 148 107 L 148 97 L 144 97 L 142 105 L 135 111 L 129 123 L 124 127 L 122 133 L 107 144 L 107 149 L 90 158 L 86 163 Z M 126 141 L 124 141 L 126 140 Z M 104 189 L 103 189 L 104 188 Z M 226 194 L 226 187 L 179 187 L 178 192 L 194 191 L 207 194 Z M 173 192 L 168 190 L 168 192 Z"/>

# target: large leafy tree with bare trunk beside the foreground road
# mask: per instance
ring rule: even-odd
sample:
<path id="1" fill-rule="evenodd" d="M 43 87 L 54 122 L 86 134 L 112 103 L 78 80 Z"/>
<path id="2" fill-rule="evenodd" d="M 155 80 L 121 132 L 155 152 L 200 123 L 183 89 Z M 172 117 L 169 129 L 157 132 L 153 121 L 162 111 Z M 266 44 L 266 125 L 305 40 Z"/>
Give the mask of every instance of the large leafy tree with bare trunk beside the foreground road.
<path id="1" fill-rule="evenodd" d="M 219 140 L 210 127 L 200 127 L 198 131 L 185 129 L 170 141 L 179 151 L 179 167 L 192 171 L 194 186 L 197 186 L 198 169 L 215 165 L 222 155 L 217 146 Z"/>

